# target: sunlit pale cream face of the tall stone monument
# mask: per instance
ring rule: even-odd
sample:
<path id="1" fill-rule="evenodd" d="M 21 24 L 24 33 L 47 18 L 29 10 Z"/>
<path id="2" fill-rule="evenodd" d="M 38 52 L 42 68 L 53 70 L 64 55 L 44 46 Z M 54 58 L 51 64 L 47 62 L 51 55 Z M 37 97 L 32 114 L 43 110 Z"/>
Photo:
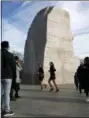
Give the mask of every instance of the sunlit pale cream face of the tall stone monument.
<path id="1" fill-rule="evenodd" d="M 47 43 L 44 54 L 45 80 L 48 82 L 49 62 L 53 61 L 56 67 L 56 81 L 58 84 L 74 82 L 74 73 L 79 64 L 73 55 L 73 36 L 70 30 L 68 12 L 54 7 L 47 20 Z"/>

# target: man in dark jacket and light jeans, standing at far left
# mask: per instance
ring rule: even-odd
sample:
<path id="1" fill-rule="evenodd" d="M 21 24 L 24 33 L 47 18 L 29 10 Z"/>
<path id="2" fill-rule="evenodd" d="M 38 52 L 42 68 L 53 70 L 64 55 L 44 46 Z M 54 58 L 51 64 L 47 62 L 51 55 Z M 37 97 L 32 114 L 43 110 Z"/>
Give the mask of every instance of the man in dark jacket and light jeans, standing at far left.
<path id="1" fill-rule="evenodd" d="M 1 110 L 4 116 L 12 116 L 10 108 L 10 89 L 12 78 L 16 78 L 16 63 L 12 53 L 8 51 L 9 42 L 1 42 Z"/>

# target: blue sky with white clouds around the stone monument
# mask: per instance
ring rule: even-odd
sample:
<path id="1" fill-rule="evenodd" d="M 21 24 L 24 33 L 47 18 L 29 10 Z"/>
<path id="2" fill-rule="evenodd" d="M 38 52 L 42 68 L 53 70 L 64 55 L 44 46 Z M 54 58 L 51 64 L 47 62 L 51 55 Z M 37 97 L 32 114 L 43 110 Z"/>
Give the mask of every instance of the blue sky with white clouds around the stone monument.
<path id="1" fill-rule="evenodd" d="M 75 56 L 89 56 L 89 1 L 3 1 L 2 40 L 8 40 L 11 50 L 24 52 L 28 28 L 36 14 L 46 6 L 57 6 L 68 11 L 74 36 Z"/>

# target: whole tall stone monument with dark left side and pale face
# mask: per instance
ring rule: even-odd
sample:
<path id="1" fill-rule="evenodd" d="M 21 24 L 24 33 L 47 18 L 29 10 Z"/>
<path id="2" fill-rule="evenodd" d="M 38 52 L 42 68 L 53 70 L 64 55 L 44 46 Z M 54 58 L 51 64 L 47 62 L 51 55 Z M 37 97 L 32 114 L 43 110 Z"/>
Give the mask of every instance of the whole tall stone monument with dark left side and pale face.
<path id="1" fill-rule="evenodd" d="M 73 55 L 73 35 L 68 12 L 58 7 L 41 10 L 28 31 L 24 54 L 24 84 L 39 84 L 37 70 L 44 67 L 45 79 L 49 78 L 49 62 L 56 67 L 57 84 L 73 83 L 79 64 Z"/>

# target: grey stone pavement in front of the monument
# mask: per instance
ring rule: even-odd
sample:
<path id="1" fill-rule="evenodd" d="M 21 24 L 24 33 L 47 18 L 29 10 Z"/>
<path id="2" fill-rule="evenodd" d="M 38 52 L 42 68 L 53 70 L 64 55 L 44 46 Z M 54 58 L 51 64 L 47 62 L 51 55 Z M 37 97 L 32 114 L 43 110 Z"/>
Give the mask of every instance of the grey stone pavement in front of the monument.
<path id="1" fill-rule="evenodd" d="M 89 117 L 89 104 L 73 85 L 61 85 L 60 92 L 39 90 L 39 86 L 21 86 L 21 99 L 12 102 L 13 117 Z"/>

